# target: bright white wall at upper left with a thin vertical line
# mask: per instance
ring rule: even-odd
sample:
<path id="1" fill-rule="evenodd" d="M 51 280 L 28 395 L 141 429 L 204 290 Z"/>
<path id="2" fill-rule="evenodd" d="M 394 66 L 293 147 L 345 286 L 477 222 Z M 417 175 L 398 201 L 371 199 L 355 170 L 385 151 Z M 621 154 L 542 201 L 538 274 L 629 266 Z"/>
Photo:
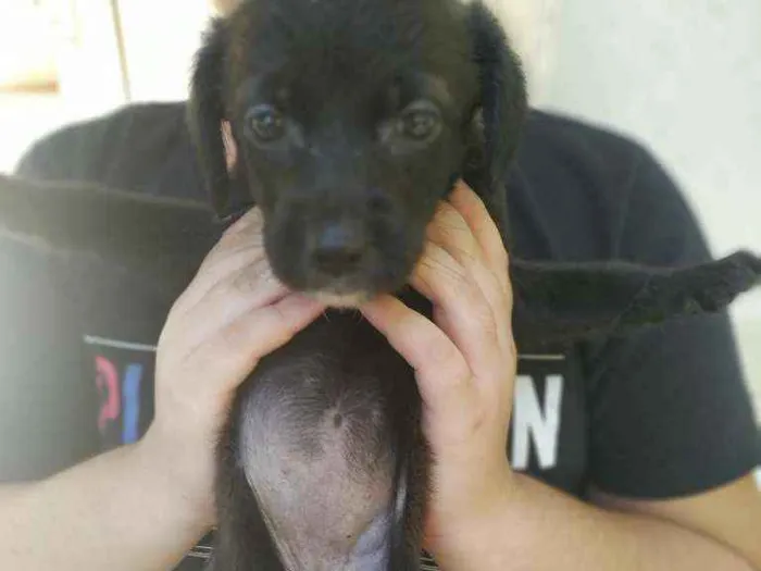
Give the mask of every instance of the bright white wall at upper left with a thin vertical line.
<path id="1" fill-rule="evenodd" d="M 0 172 L 12 171 L 29 145 L 63 125 L 128 102 L 187 97 L 210 15 L 205 0 L 72 0 L 71 8 L 57 41 L 61 92 L 0 95 Z"/>

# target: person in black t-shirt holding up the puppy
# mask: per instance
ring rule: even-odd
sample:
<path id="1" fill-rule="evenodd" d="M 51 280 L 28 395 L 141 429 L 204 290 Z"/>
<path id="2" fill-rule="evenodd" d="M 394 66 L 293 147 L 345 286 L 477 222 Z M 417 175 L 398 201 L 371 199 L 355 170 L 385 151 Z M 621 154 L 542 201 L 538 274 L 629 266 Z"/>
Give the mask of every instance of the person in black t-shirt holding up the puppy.
<path id="1" fill-rule="evenodd" d="M 184 125 L 180 104 L 127 108 L 41 141 L 18 173 L 201 199 Z M 523 258 L 672 264 L 709 256 L 665 172 L 622 137 L 535 112 L 507 183 Z M 147 361 L 130 361 L 120 377 L 109 367 L 117 359 L 98 355 L 86 388 L 78 365 L 62 367 L 62 398 L 105 387 L 90 425 L 110 449 L 98 454 L 95 443 L 0 487 L 11 567 L 171 569 L 213 526 L 211 443 L 233 390 L 323 309 L 267 278 L 250 239 L 260 231 L 255 209 L 229 228 L 158 339 L 111 343 L 135 359 L 158 342 L 155 385 L 139 377 L 138 405 L 127 387 Z M 472 190 L 460 185 L 442 206 L 428 245 L 413 285 L 438 309 L 434 321 L 390 297 L 361 311 L 417 373 L 437 460 L 425 547 L 442 569 L 761 569 L 758 429 L 726 315 L 585 344 L 572 358 L 521 356 L 510 331 L 513 252 Z M 9 264 L 12 250 L 0 249 Z M 23 312 L 24 280 L 39 287 L 42 274 L 22 266 L 15 284 L 0 284 L 3 314 Z M 65 332 L 42 325 L 27 337 L 55 346 L 51 335 Z M 9 339 L 0 337 L 9 378 L 25 380 L 32 369 Z M 64 349 L 61 364 L 71 364 Z M 139 438 L 136 406 L 144 417 L 153 409 Z M 11 410 L 5 422 L 15 429 L 17 417 Z M 122 429 L 113 438 L 112 426 Z M 10 460 L 0 469 L 3 481 L 20 480 Z"/>

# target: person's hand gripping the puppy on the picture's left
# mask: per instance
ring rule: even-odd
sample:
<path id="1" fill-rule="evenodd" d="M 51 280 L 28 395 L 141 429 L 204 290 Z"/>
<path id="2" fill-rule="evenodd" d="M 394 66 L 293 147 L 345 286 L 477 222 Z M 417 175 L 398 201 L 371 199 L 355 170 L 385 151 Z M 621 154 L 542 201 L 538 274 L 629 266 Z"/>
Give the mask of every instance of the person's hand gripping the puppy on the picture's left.
<path id="1" fill-rule="evenodd" d="M 141 446 L 197 521 L 214 520 L 214 447 L 235 389 L 323 309 L 274 277 L 259 209 L 227 229 L 172 307 L 157 351 L 154 421 Z"/>

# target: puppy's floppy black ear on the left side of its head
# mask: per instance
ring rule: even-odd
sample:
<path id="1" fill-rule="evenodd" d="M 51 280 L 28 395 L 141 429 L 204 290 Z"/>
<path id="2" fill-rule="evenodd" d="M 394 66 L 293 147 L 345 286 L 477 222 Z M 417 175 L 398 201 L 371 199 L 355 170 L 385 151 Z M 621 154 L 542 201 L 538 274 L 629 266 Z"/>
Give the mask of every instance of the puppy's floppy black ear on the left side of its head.
<path id="1" fill-rule="evenodd" d="M 227 148 L 229 126 L 225 116 L 225 54 L 227 25 L 215 20 L 196 54 L 190 79 L 187 122 L 190 137 L 198 153 L 211 203 L 217 218 L 233 215 L 239 206 L 232 204 L 232 170 L 228 169 Z M 227 133 L 223 132 L 227 125 Z M 226 147 L 227 142 L 227 147 Z"/>

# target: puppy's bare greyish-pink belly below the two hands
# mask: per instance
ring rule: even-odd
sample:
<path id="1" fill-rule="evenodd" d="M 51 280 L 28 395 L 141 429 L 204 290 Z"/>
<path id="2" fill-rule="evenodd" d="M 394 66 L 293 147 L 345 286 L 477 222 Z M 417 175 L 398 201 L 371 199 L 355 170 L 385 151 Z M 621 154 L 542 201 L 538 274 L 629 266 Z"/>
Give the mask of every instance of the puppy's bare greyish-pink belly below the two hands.
<path id="1" fill-rule="evenodd" d="M 289 363 L 245 397 L 240 460 L 289 570 L 386 568 L 394 452 L 383 399 L 358 388 Z"/>

